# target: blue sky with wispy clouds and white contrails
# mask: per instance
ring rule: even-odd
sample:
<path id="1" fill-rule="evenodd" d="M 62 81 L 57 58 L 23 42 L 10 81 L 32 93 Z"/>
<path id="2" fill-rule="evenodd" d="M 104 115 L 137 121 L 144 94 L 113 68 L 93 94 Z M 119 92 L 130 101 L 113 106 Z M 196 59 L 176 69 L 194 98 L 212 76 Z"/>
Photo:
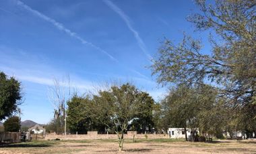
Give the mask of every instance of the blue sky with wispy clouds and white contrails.
<path id="1" fill-rule="evenodd" d="M 192 0 L 1 0 L 0 71 L 22 84 L 22 121 L 49 123 L 49 89 L 66 76 L 79 94 L 119 80 L 161 100 L 151 60 L 164 37 L 207 42 L 186 20 L 198 11 Z"/>

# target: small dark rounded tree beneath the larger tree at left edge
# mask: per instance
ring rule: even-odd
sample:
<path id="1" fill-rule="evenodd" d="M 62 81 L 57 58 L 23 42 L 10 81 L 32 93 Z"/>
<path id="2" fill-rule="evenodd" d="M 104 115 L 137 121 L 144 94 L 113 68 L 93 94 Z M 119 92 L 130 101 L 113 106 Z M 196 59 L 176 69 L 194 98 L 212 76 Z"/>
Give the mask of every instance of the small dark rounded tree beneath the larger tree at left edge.
<path id="1" fill-rule="evenodd" d="M 9 117 L 9 119 L 7 119 L 5 123 L 3 123 L 3 126 L 5 127 L 5 131 L 19 132 L 20 119 L 19 117 Z"/>

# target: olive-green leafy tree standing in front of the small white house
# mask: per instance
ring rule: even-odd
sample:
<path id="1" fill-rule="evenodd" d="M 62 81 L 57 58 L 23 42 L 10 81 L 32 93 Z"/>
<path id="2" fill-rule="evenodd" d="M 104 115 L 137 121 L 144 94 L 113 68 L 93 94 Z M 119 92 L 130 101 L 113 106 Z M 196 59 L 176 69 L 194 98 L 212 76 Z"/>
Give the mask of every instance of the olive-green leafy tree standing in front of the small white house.
<path id="1" fill-rule="evenodd" d="M 183 127 L 188 141 L 187 128 L 191 129 L 191 139 L 195 141 L 195 131 L 216 135 L 221 130 L 222 114 L 216 101 L 216 91 L 210 86 L 189 87 L 179 85 L 162 101 L 164 119 L 171 127 Z"/>

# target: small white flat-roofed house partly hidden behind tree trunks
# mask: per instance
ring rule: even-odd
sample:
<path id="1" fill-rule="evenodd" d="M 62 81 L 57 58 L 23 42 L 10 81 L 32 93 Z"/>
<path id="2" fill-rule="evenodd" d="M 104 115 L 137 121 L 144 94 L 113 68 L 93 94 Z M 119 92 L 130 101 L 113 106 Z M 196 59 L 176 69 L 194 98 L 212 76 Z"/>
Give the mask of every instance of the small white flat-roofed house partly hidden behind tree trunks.
<path id="1" fill-rule="evenodd" d="M 168 135 L 170 139 L 180 139 L 185 138 L 185 131 L 184 128 L 168 128 Z M 199 130 L 196 130 L 196 133 L 199 133 Z M 187 129 L 187 137 L 191 135 L 191 129 Z"/>

